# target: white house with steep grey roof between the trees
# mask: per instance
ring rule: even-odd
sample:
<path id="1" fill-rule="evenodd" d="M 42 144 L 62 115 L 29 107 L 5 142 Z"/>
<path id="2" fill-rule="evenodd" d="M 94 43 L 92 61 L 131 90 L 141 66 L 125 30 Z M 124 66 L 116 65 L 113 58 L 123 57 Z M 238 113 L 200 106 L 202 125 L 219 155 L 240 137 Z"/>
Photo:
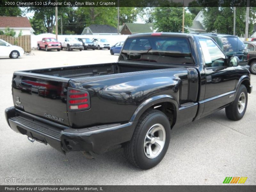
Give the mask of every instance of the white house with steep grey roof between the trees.
<path id="1" fill-rule="evenodd" d="M 206 30 L 203 25 L 203 20 L 204 14 L 203 11 L 200 11 L 193 20 L 192 26 L 187 27 L 189 33 L 205 33 Z"/>

